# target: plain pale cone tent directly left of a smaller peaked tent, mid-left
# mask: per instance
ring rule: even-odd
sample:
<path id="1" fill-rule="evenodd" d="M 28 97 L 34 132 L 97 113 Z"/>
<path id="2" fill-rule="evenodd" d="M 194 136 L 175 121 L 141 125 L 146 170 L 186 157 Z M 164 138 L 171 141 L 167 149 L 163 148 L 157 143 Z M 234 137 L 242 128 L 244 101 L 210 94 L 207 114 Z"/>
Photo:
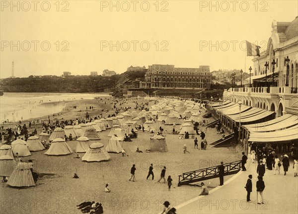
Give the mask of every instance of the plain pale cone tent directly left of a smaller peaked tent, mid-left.
<path id="1" fill-rule="evenodd" d="M 52 141 L 50 148 L 45 152 L 47 155 L 67 155 L 71 153 L 73 153 L 72 148 L 61 138 Z"/>

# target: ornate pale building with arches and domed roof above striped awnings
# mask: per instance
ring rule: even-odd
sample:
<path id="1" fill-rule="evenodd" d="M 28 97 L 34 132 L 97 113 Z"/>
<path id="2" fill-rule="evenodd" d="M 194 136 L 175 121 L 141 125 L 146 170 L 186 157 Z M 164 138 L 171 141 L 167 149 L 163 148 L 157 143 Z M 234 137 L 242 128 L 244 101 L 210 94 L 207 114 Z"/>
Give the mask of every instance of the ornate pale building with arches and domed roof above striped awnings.
<path id="1" fill-rule="evenodd" d="M 276 117 L 298 114 L 298 16 L 292 22 L 273 20 L 267 50 L 252 61 L 251 87 L 225 90 L 224 99 L 274 111 Z"/>

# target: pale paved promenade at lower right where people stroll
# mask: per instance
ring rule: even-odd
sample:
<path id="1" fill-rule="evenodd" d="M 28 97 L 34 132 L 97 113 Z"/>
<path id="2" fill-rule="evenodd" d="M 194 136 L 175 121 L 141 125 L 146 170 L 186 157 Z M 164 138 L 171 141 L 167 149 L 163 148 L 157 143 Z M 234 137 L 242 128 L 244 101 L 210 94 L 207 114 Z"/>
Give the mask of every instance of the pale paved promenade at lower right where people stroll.
<path id="1" fill-rule="evenodd" d="M 281 159 L 281 158 L 280 158 Z M 256 162 L 252 163 L 250 156 L 247 160 L 247 171 L 240 171 L 229 180 L 224 181 L 224 186 L 218 186 L 207 196 L 198 196 L 180 205 L 172 205 L 177 214 L 298 214 L 298 177 L 294 177 L 293 161 L 284 176 L 283 167 L 281 174 L 274 174 L 274 170 L 267 170 L 263 177 L 265 182 L 265 204 L 257 204 L 256 193 Z M 252 174 L 252 193 L 246 202 L 244 188 L 248 175 Z M 205 182 L 208 184 L 208 180 Z M 198 195 L 201 189 L 198 188 Z"/>

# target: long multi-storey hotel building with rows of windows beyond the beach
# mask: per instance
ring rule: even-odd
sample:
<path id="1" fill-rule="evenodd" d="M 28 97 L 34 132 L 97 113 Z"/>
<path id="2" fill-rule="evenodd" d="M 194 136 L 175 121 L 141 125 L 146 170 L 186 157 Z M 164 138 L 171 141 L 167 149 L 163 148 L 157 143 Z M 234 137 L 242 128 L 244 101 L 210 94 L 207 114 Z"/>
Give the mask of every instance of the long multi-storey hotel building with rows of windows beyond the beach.
<path id="1" fill-rule="evenodd" d="M 145 81 L 140 82 L 140 88 L 209 89 L 211 76 L 209 66 L 190 69 L 152 65 L 148 67 Z"/>

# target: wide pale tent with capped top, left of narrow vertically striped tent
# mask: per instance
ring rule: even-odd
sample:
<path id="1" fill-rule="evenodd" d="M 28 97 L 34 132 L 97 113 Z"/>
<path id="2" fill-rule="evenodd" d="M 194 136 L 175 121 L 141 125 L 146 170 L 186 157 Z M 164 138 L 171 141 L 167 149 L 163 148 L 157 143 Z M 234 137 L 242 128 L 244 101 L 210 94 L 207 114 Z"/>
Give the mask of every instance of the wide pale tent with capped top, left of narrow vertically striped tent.
<path id="1" fill-rule="evenodd" d="M 105 161 L 111 159 L 109 153 L 103 148 L 102 143 L 92 143 L 89 149 L 82 157 L 82 161 L 92 162 L 92 161 Z"/>

